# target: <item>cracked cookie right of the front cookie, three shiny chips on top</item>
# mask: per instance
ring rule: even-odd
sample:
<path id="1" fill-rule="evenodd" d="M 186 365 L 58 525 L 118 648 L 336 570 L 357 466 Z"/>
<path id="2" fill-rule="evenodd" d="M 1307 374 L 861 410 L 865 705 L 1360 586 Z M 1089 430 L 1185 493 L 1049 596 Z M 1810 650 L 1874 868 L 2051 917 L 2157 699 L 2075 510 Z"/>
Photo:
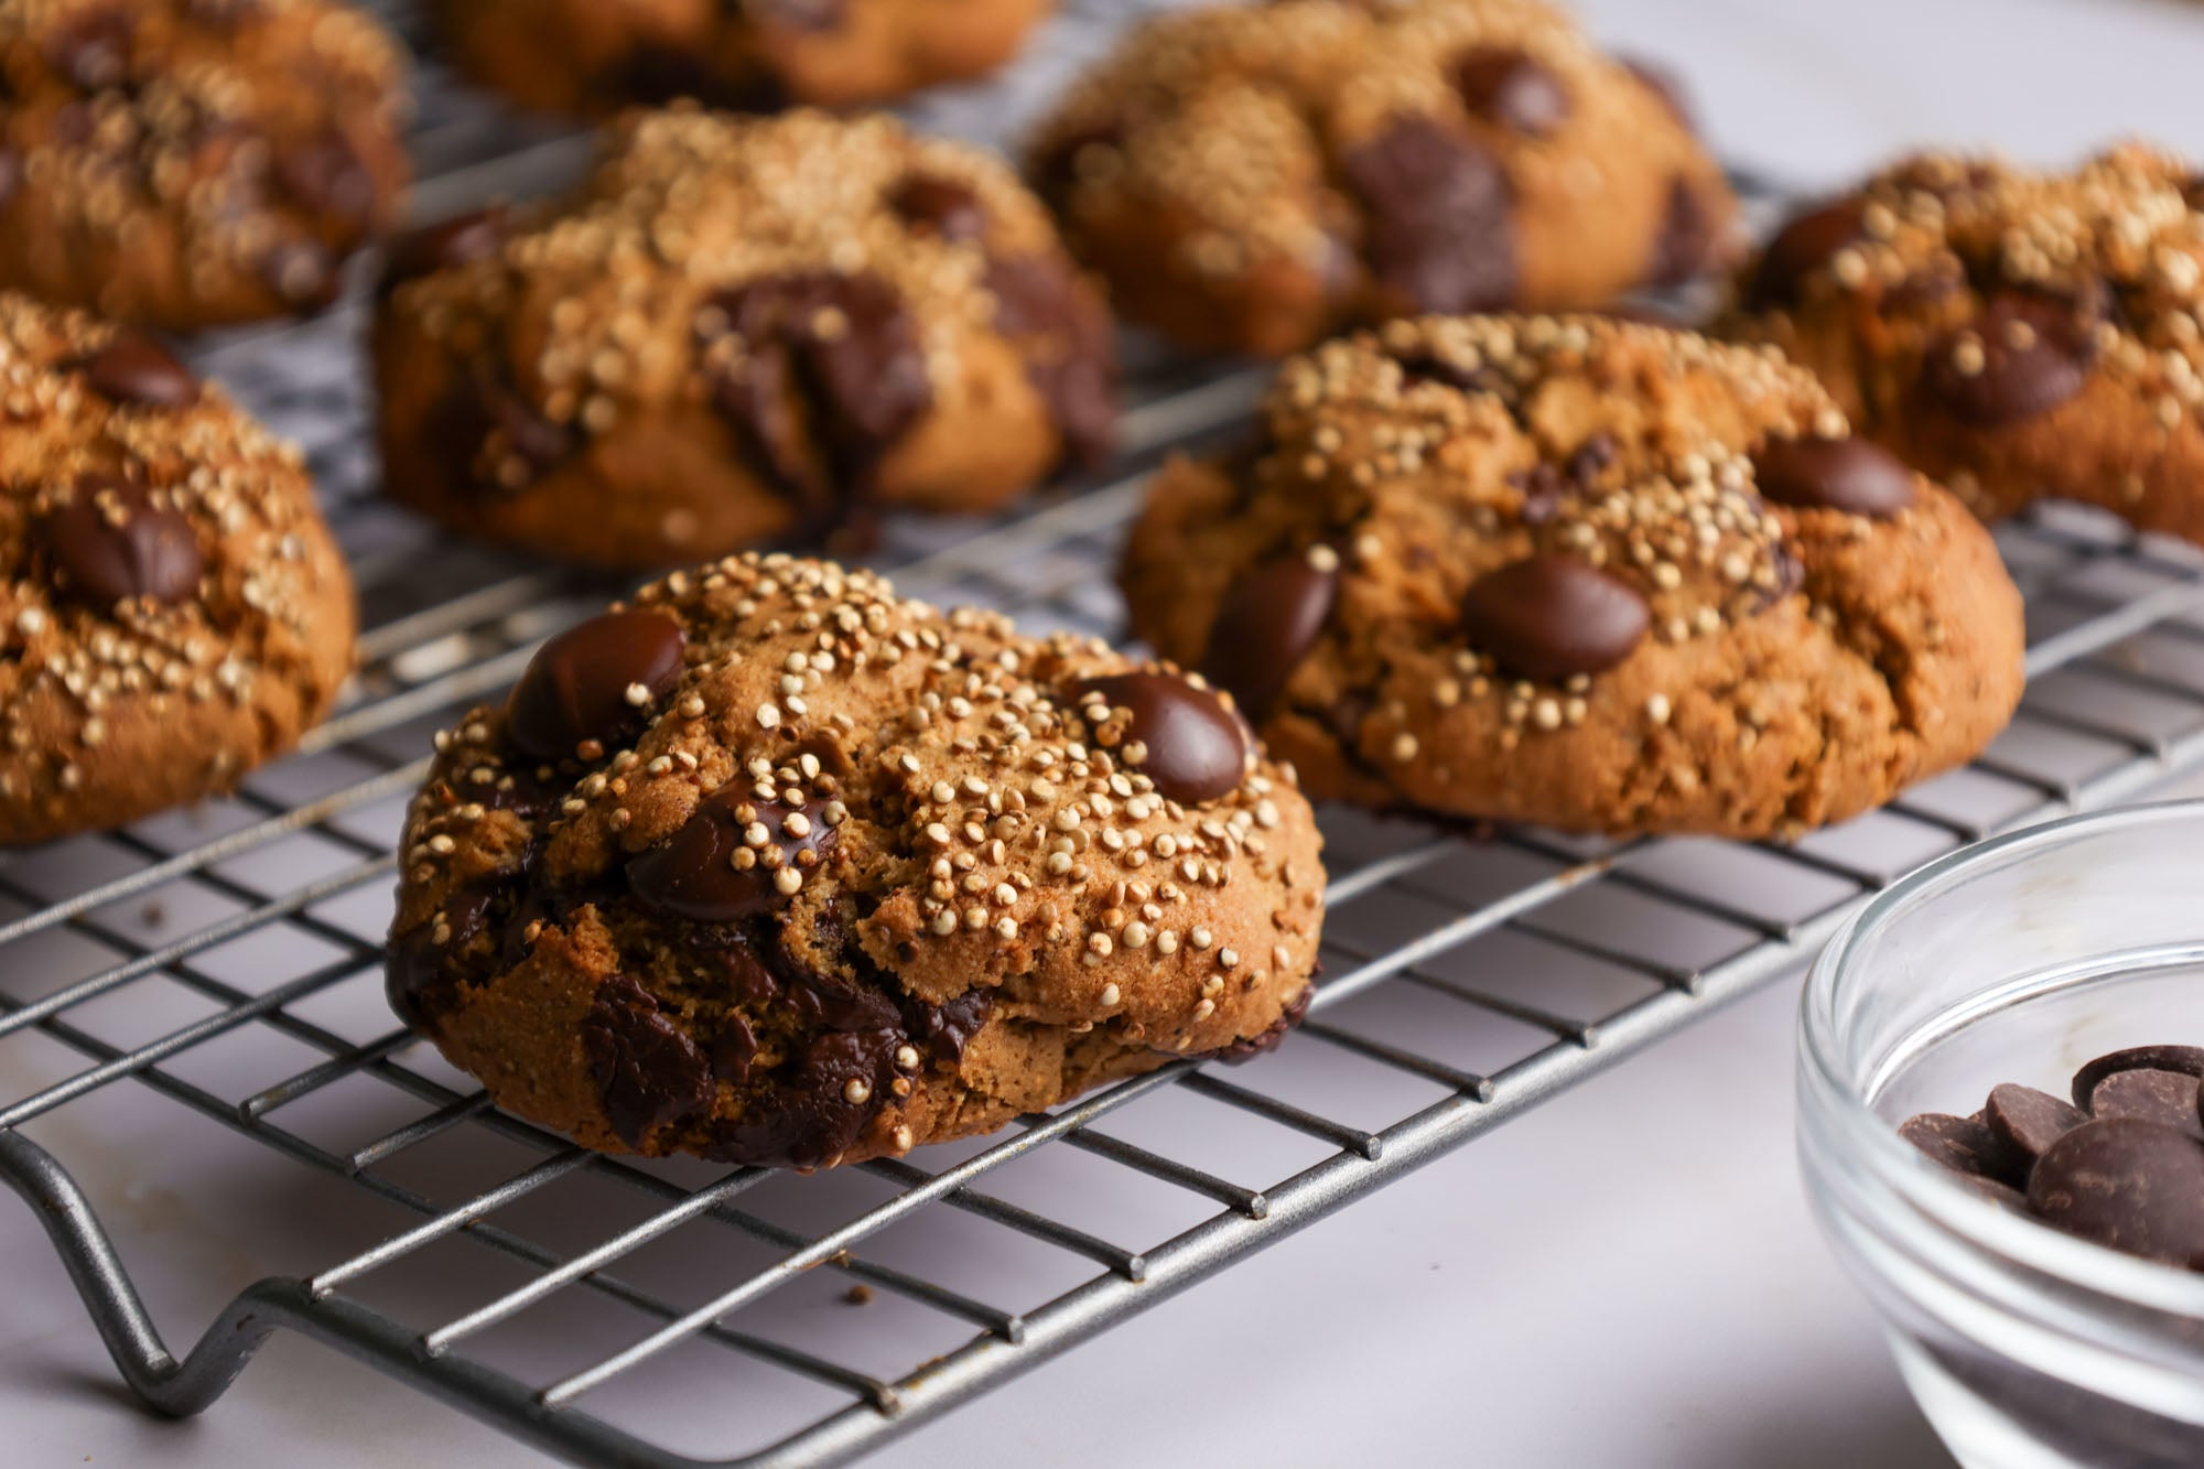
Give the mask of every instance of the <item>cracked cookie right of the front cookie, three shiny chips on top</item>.
<path id="1" fill-rule="evenodd" d="M 1157 476 L 1124 589 L 1311 796 L 1792 834 L 2019 701 L 1988 532 L 1774 353 L 1402 320 L 1287 362 L 1261 426 Z"/>

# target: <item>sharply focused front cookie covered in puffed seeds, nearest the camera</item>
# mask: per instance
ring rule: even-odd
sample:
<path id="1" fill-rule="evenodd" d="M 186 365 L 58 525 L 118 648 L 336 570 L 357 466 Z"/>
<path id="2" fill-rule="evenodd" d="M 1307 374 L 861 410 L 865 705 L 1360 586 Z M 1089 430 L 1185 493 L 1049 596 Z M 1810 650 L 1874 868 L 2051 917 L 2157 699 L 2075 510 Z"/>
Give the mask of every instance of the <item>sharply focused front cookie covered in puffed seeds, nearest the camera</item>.
<path id="1" fill-rule="evenodd" d="M 1197 679 L 741 556 L 439 741 L 392 1006 L 611 1151 L 827 1167 L 1300 1017 L 1325 876 Z"/>

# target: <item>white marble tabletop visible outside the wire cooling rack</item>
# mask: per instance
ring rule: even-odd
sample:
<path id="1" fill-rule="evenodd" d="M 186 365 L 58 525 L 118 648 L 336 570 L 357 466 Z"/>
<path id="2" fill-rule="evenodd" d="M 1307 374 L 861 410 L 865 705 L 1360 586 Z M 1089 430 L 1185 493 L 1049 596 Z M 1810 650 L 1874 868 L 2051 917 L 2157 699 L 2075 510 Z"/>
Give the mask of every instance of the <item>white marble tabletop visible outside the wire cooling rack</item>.
<path id="1" fill-rule="evenodd" d="M 1721 150 L 1807 185 L 1915 141 L 2204 150 L 2178 0 L 1591 0 L 1682 64 Z M 912 1436 L 886 1462 L 1946 1465 L 1807 1222 L 1785 982 Z M 134 1138 L 141 1156 L 163 1156 Z M 159 1178 L 101 1200 L 183 1337 L 225 1231 Z M 300 1207 L 253 1200 L 236 1209 Z M 115 1385 L 60 1264 L 0 1202 L 7 1465 L 538 1462 L 293 1337 L 214 1412 Z"/>

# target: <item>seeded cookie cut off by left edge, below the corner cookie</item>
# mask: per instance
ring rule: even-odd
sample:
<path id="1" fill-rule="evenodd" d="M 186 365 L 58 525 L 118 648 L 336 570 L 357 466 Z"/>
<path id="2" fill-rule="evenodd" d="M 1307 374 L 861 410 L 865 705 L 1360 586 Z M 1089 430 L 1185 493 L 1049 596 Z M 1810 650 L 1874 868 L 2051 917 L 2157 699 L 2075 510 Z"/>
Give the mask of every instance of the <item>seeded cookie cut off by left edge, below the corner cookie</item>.
<path id="1" fill-rule="evenodd" d="M 353 666 L 298 450 L 150 337 L 0 291 L 0 843 L 227 790 Z"/>

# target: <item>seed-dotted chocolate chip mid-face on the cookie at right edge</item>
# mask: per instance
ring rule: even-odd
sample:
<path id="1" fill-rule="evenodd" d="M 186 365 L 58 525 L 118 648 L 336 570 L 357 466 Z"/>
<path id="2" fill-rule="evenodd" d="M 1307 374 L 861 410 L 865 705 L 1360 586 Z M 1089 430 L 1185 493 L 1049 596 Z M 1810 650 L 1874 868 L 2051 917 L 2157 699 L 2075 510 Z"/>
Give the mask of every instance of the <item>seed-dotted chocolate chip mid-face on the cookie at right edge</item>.
<path id="1" fill-rule="evenodd" d="M 2103 315 L 2103 291 L 2001 291 L 1929 351 L 1922 386 L 1984 428 L 2050 412 L 2089 382 Z"/>

